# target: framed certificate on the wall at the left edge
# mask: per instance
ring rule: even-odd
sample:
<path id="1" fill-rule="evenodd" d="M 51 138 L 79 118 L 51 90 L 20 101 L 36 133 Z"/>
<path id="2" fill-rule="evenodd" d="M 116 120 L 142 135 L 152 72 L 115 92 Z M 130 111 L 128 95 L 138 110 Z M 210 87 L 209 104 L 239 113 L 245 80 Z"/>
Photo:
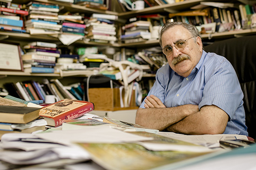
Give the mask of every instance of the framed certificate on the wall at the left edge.
<path id="1" fill-rule="evenodd" d="M 23 71 L 20 44 L 0 41 L 0 70 Z"/>

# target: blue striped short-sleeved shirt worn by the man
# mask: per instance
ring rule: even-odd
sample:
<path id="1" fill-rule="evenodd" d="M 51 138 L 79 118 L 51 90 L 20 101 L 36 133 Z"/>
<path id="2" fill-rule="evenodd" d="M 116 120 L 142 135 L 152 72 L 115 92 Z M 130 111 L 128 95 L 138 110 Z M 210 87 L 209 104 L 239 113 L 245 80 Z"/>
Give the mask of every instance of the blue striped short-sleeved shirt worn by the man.
<path id="1" fill-rule="evenodd" d="M 225 57 L 203 51 L 188 77 L 179 76 L 167 64 L 158 69 L 155 79 L 148 95 L 154 94 L 166 107 L 193 104 L 200 109 L 205 105 L 216 105 L 229 115 L 224 134 L 248 136 L 243 91 L 235 69 Z M 140 107 L 145 108 L 144 104 L 145 101 Z"/>

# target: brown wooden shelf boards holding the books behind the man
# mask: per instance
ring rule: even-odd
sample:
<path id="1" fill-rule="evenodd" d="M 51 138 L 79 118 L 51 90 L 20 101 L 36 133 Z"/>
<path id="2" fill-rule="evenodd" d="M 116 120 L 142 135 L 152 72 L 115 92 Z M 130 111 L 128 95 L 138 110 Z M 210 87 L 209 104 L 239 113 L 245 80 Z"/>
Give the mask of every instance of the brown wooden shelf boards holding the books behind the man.
<path id="1" fill-rule="evenodd" d="M 118 13 L 114 11 L 104 11 L 104 10 L 96 10 L 92 8 L 87 8 L 84 6 L 74 5 L 70 3 L 64 3 L 61 1 L 55 1 L 55 0 L 34 0 L 37 2 L 43 2 L 43 3 L 53 3 L 58 4 L 61 6 L 61 13 L 65 12 L 71 12 L 71 13 L 85 13 L 87 16 L 90 16 L 92 13 L 102 13 L 102 14 L 113 14 L 117 15 L 120 19 L 120 23 L 122 24 L 123 20 L 129 19 L 131 17 L 135 17 L 136 15 L 142 15 L 142 14 L 150 14 L 150 13 L 161 13 L 161 14 L 168 14 L 168 13 L 176 13 L 180 11 L 186 11 L 189 10 L 191 6 L 199 5 L 201 1 L 208 1 L 208 0 L 185 0 L 179 3 L 174 4 L 166 4 L 161 6 L 152 6 L 147 7 L 140 11 L 129 11 L 129 12 L 123 12 Z M 229 2 L 229 0 L 215 0 L 219 2 Z M 13 3 L 18 4 L 26 4 L 30 2 L 30 0 L 13 0 Z M 253 1 L 249 0 L 236 0 L 236 2 L 241 2 L 244 4 L 253 3 Z M 117 1 L 113 0 L 113 3 L 115 3 L 115 6 L 118 6 Z M 202 39 L 207 40 L 210 38 L 214 38 L 216 40 L 221 40 L 225 38 L 233 38 L 238 36 L 248 36 L 248 35 L 254 35 L 256 34 L 256 28 L 254 29 L 246 29 L 246 30 L 238 30 L 238 31 L 226 31 L 226 32 L 217 32 L 213 34 L 202 34 Z M 50 37 L 47 35 L 30 35 L 27 33 L 13 33 L 13 32 L 7 32 L 7 31 L 0 31 L 0 40 L 6 40 L 6 41 L 14 41 L 14 42 L 31 42 L 31 41 L 47 41 L 47 42 L 54 42 L 56 44 L 61 44 L 60 40 L 56 37 Z M 101 43 L 94 43 L 94 42 L 87 42 L 84 40 L 78 40 L 74 44 L 71 45 L 83 45 L 83 46 L 111 46 L 116 48 L 135 48 L 135 49 L 143 49 L 145 47 L 150 46 L 157 46 L 159 45 L 158 40 L 148 40 L 145 42 L 138 42 L 138 43 L 129 43 L 129 44 L 123 44 L 123 43 L 114 43 L 114 44 L 101 44 Z M 83 77 L 89 76 L 92 72 L 62 72 L 59 74 L 29 74 L 29 73 L 23 73 L 23 72 L 12 72 L 12 71 L 0 71 L 0 80 L 5 79 L 6 77 L 23 77 L 26 78 L 31 77 L 57 77 L 57 78 L 69 78 L 69 77 L 76 77 L 82 79 Z M 154 77 L 155 75 L 145 75 L 144 77 Z M 67 79 L 68 79 L 67 78 Z M 4 82 L 4 81 L 2 81 Z M 2 85 L 3 83 L 0 83 Z"/>

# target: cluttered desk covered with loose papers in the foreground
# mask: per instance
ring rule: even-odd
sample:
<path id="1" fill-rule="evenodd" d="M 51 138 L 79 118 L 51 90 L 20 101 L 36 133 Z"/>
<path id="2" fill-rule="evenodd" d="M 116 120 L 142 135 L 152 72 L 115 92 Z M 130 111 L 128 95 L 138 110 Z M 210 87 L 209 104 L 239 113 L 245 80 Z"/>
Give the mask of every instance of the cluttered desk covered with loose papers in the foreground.
<path id="1" fill-rule="evenodd" d="M 10 99 L 1 98 L 1 103 L 3 100 Z M 86 109 L 83 107 L 78 110 L 79 106 L 76 106 L 73 114 L 65 115 L 64 120 L 61 120 L 63 116 L 60 115 L 68 112 L 65 108 L 71 108 L 74 103 L 85 103 L 73 101 L 66 106 L 63 103 L 60 105 L 60 102 L 67 101 L 70 103 L 70 100 L 66 100 L 57 102 L 58 105 L 53 103 L 38 107 L 35 110 L 41 116 L 35 116 L 32 122 L 22 124 L 32 126 L 34 121 L 40 120 L 40 126 L 45 130 L 35 129 L 26 133 L 10 130 L 2 133 L 0 170 L 256 169 L 256 144 L 248 140 L 247 136 L 159 132 L 90 114 L 93 106 L 88 104 L 85 104 Z M 13 106 L 13 101 L 8 102 Z M 58 107 L 62 107 L 62 112 L 56 111 Z M 42 116 L 48 111 L 48 117 Z M 51 120 L 51 116 L 59 117 Z M 2 122 L 4 119 L 0 120 Z"/>

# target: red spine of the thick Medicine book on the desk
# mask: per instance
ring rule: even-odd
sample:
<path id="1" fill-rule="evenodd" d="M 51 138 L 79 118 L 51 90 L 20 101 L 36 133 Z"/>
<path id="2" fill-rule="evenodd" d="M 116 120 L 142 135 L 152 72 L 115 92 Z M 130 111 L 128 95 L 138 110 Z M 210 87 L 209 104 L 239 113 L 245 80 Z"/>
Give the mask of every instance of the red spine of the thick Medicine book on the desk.
<path id="1" fill-rule="evenodd" d="M 65 122 L 65 120 L 70 120 L 70 119 L 76 119 L 86 113 L 89 113 L 94 110 L 94 105 L 92 103 L 88 103 L 87 105 L 83 106 L 82 109 L 74 109 L 70 112 L 67 112 L 65 115 L 61 114 L 57 116 L 56 118 L 52 118 L 55 121 L 55 127 L 61 126 L 62 123 Z"/>

